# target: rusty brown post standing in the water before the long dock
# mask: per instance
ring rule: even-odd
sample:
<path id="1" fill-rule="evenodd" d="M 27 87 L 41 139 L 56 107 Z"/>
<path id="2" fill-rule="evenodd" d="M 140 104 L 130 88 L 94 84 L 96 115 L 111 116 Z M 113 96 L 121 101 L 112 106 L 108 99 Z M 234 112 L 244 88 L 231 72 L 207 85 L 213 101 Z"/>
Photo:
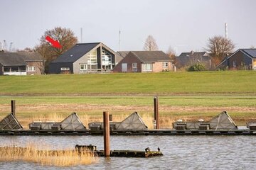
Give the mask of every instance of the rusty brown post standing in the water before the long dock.
<path id="1" fill-rule="evenodd" d="M 110 113 L 103 112 L 104 123 L 104 155 L 110 157 Z"/>

